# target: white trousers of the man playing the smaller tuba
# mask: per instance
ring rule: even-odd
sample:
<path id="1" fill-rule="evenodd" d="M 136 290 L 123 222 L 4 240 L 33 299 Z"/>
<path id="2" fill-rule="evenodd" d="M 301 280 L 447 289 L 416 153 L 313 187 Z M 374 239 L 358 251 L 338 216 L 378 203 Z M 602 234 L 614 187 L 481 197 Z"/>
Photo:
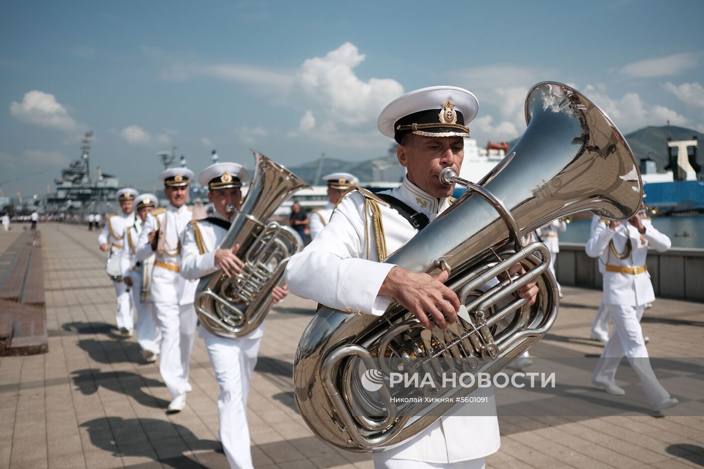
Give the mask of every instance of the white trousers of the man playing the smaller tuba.
<path id="1" fill-rule="evenodd" d="M 220 385 L 220 442 L 231 468 L 253 467 L 247 426 L 247 394 L 260 342 L 260 338 L 206 337 L 210 363 Z"/>

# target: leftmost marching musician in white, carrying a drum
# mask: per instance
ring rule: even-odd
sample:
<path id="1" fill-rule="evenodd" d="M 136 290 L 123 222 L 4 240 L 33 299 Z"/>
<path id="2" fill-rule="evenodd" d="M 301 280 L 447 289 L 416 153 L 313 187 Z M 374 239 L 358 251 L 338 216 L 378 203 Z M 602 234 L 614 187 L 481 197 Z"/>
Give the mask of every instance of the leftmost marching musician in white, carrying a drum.
<path id="1" fill-rule="evenodd" d="M 120 204 L 120 211 L 108 215 L 103 231 L 98 237 L 98 245 L 103 252 L 109 252 L 110 257 L 122 254 L 122 244 L 125 241 L 127 227 L 134 225 L 134 211 L 132 203 L 139 195 L 135 189 L 125 187 L 115 193 L 115 198 Z M 96 224 L 96 226 L 98 226 Z M 118 315 L 116 322 L 122 337 L 132 337 L 134 317 L 132 316 L 132 299 L 127 285 L 122 280 L 113 280 L 115 296 L 118 301 Z"/>

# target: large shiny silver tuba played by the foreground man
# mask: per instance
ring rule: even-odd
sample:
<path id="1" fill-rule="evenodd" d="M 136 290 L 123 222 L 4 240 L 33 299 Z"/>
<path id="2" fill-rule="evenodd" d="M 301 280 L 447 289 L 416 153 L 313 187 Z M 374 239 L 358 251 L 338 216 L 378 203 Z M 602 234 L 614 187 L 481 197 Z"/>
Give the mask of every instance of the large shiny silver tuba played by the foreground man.
<path id="1" fill-rule="evenodd" d="M 477 380 L 444 391 L 435 397 L 447 399 L 433 404 L 394 399 L 386 358 L 406 369 L 432 371 L 439 361 L 454 361 L 475 376 L 497 373 L 541 339 L 558 313 L 550 253 L 542 243 L 524 246 L 522 237 L 579 211 L 610 220 L 636 213 L 643 194 L 634 156 L 589 99 L 560 83 L 541 82 L 526 97 L 525 117 L 527 130 L 479 183 L 451 168 L 442 171 L 444 185 L 463 185 L 467 192 L 385 261 L 415 272 L 448 270 L 446 285 L 462 305 L 454 324 L 426 330 L 395 303 L 380 317 L 321 308 L 308 324 L 294 360 L 294 396 L 322 439 L 348 451 L 371 451 L 404 442 L 451 411 Z M 508 275 L 518 262 L 527 272 Z M 516 291 L 534 281 L 539 294 L 527 306 Z M 376 381 L 368 379 L 369 371 L 377 373 L 371 375 Z M 374 392 L 365 377 L 378 384 Z"/>

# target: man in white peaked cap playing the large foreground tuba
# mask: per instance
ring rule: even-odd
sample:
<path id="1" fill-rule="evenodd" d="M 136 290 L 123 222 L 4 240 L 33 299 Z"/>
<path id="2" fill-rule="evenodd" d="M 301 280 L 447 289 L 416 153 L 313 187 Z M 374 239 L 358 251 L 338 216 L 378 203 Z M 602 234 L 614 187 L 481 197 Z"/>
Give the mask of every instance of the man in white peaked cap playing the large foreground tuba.
<path id="1" fill-rule="evenodd" d="M 325 229 L 289 260 L 291 292 L 358 314 L 382 315 L 394 299 L 424 327 L 433 327 L 426 311 L 441 329 L 453 323 L 460 302 L 443 283 L 446 271 L 432 277 L 381 261 L 452 203 L 453 186 L 442 185 L 439 174 L 447 167 L 460 173 L 463 138 L 470 136 L 467 124 L 478 110 L 474 95 L 457 87 L 420 89 L 386 106 L 379 130 L 398 143 L 398 162 L 407 171 L 403 184 L 378 195 L 356 187 L 344 196 Z M 517 264 L 510 273 L 522 270 Z M 537 292 L 531 283 L 520 289 L 520 296 L 533 304 Z M 469 429 L 474 429 L 471 438 Z M 499 444 L 496 415 L 444 415 L 372 457 L 377 468 L 482 468 Z"/>

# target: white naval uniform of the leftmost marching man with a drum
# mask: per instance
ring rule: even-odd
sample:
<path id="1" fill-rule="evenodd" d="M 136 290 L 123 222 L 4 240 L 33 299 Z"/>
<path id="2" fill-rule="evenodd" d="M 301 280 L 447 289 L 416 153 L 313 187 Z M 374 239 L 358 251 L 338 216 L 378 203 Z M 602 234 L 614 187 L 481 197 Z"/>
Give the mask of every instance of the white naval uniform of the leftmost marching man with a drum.
<path id="1" fill-rule="evenodd" d="M 108 218 L 103 227 L 103 231 L 98 236 L 98 246 L 108 244 L 110 255 L 119 256 L 122 253 L 122 245 L 125 242 L 125 232 L 127 227 L 134 225 L 134 213 L 127 215 L 125 212 L 113 213 Z M 124 282 L 113 282 L 115 296 L 118 301 L 118 314 L 116 323 L 118 329 L 122 327 L 132 331 L 134 329 L 134 316 L 132 315 L 132 297 L 127 292 L 127 285 Z"/>

